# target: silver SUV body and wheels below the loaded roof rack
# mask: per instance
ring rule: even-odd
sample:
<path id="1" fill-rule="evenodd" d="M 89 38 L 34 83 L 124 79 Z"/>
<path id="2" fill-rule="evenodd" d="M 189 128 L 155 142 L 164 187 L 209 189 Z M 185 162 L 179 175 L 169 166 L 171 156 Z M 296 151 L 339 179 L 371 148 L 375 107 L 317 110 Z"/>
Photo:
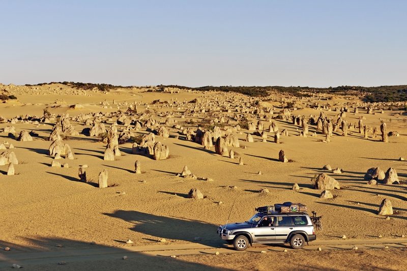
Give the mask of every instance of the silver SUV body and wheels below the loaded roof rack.
<path id="1" fill-rule="evenodd" d="M 221 225 L 217 232 L 236 250 L 245 250 L 249 244 L 283 243 L 301 249 L 305 242 L 316 239 L 307 213 L 257 213 L 246 222 Z"/>

